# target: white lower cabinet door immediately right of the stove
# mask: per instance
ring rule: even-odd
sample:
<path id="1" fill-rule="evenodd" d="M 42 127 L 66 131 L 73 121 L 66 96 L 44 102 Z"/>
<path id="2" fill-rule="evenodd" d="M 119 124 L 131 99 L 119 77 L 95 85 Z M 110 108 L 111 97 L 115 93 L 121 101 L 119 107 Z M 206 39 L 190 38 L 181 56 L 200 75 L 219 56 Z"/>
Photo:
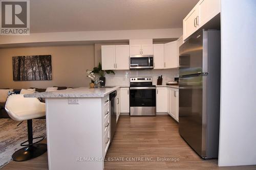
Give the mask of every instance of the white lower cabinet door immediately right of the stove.
<path id="1" fill-rule="evenodd" d="M 167 87 L 157 87 L 156 107 L 157 113 L 167 112 Z"/>

